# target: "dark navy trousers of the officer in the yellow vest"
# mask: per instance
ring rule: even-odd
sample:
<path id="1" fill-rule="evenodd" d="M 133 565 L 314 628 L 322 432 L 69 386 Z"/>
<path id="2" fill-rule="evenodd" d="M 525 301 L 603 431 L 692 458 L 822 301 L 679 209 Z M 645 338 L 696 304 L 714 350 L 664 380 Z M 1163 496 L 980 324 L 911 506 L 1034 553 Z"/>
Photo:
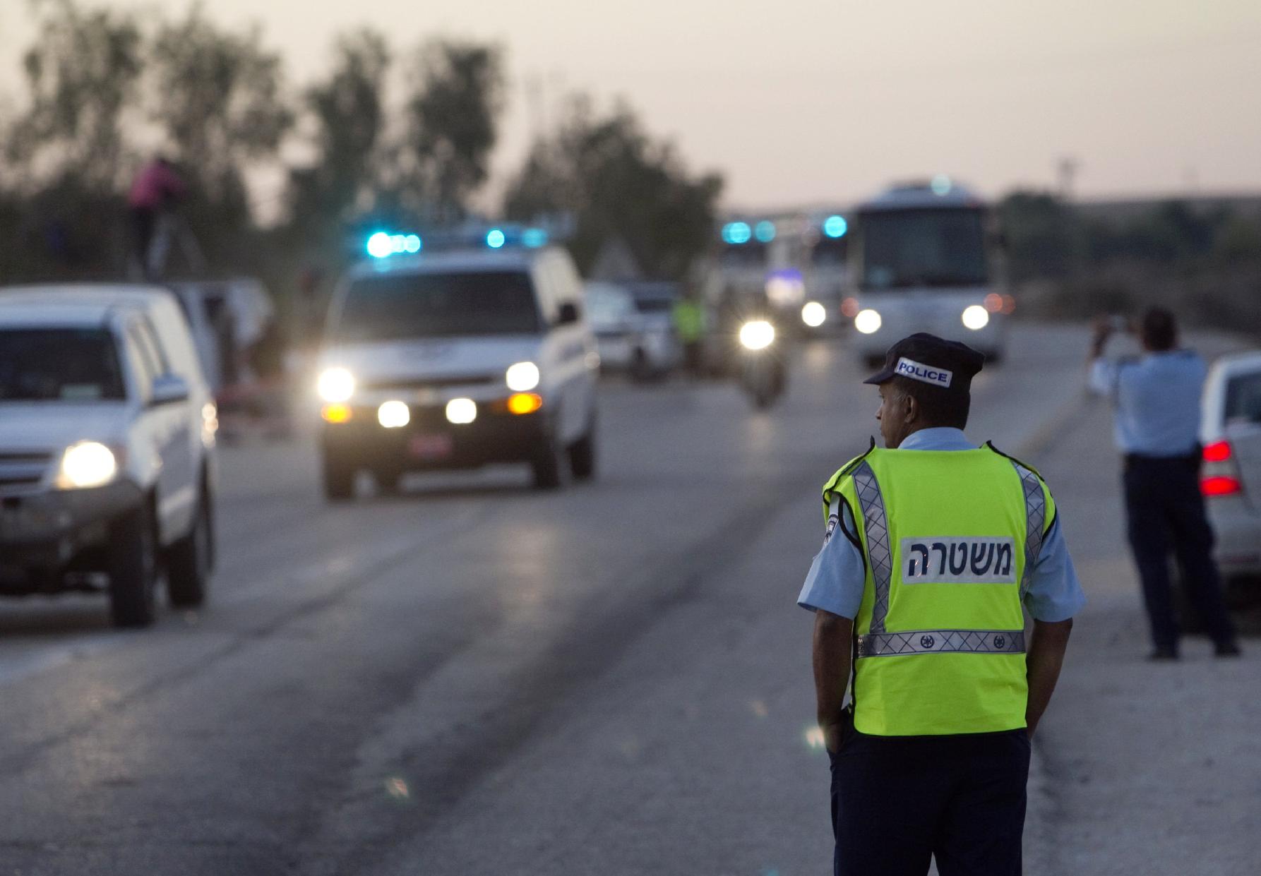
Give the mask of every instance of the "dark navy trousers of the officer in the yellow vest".
<path id="1" fill-rule="evenodd" d="M 832 760 L 836 876 L 1020 876 L 1029 736 L 868 736 Z"/>

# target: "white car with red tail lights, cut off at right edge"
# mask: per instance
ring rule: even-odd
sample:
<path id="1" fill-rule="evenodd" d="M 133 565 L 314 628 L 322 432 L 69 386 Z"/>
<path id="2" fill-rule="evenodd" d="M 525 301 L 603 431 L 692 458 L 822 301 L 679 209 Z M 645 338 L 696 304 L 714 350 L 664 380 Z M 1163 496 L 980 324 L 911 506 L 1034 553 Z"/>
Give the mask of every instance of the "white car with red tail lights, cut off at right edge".
<path id="1" fill-rule="evenodd" d="M 1213 363 L 1200 410 L 1200 490 L 1229 591 L 1261 579 L 1261 352 Z M 1261 591 L 1258 591 L 1261 592 Z"/>

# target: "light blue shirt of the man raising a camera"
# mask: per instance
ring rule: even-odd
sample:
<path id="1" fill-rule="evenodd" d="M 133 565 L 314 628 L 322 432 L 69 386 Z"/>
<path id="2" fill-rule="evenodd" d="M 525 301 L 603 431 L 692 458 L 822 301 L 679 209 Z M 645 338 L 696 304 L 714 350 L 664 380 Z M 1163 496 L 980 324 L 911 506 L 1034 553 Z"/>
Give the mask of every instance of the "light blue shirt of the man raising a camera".
<path id="1" fill-rule="evenodd" d="M 1112 400 L 1116 446 L 1142 456 L 1187 456 L 1199 441 L 1199 393 L 1208 368 L 1192 350 L 1095 359 L 1090 387 Z"/>

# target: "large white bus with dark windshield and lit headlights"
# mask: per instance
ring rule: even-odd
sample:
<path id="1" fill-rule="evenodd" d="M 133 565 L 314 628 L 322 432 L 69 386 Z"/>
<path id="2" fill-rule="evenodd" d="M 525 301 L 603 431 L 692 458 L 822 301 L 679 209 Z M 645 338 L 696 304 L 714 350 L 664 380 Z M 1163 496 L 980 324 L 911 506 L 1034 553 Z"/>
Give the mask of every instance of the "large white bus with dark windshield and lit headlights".
<path id="1" fill-rule="evenodd" d="M 944 176 L 860 204 L 846 271 L 852 343 L 875 366 L 899 338 L 929 331 L 1002 357 L 1014 301 L 996 270 L 999 236 L 984 200 Z"/>

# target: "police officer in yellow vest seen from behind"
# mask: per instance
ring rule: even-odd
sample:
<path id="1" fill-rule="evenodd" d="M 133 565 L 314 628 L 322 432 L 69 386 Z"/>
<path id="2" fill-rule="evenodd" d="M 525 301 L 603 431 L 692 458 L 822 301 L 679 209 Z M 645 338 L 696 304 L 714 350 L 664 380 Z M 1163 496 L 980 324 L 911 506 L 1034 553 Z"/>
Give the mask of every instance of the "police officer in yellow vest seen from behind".
<path id="1" fill-rule="evenodd" d="M 837 875 L 1020 873 L 1029 741 L 1086 599 L 1042 478 L 963 435 L 984 362 L 929 334 L 889 348 L 866 381 L 885 449 L 823 487 L 798 604 Z"/>

